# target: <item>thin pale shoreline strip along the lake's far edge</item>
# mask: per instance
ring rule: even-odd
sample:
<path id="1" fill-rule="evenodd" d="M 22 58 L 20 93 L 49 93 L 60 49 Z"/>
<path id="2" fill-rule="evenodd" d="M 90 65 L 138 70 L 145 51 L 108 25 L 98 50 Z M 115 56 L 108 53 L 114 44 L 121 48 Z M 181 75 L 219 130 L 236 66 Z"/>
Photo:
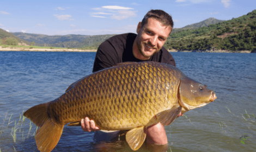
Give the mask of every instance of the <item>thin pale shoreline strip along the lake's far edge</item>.
<path id="1" fill-rule="evenodd" d="M 96 52 L 96 49 L 62 49 L 62 48 L 22 48 L 0 46 L 0 51 L 27 51 L 27 52 Z M 203 52 L 203 53 L 251 53 L 250 50 L 176 50 L 168 49 L 168 52 Z"/>

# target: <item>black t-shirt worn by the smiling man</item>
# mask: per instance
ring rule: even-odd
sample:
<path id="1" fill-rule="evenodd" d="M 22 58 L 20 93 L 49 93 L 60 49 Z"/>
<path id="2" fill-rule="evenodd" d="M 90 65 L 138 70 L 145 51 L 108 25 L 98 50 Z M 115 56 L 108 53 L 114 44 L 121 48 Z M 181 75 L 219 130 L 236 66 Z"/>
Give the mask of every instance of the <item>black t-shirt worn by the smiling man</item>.
<path id="1" fill-rule="evenodd" d="M 132 54 L 132 46 L 137 34 L 126 33 L 115 35 L 101 43 L 97 49 L 93 72 L 112 67 L 121 62 L 156 61 L 176 66 L 173 56 L 164 48 L 148 60 L 139 60 Z"/>

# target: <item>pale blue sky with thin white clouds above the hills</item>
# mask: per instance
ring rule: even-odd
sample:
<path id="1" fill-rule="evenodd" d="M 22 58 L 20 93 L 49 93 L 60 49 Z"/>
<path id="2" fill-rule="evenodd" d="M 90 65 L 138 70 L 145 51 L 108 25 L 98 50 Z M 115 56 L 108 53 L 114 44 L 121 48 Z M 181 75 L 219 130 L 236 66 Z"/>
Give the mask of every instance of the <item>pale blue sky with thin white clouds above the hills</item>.
<path id="1" fill-rule="evenodd" d="M 45 35 L 136 33 L 151 9 L 170 14 L 174 28 L 207 18 L 231 20 L 256 9 L 255 0 L 20 1 L 0 0 L 0 28 Z"/>

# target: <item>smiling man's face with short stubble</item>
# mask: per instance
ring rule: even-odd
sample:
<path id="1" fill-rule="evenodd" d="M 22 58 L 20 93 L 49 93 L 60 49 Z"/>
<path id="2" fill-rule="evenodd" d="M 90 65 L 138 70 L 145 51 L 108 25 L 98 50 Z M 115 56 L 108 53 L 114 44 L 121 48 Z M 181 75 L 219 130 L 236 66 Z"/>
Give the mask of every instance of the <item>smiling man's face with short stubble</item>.
<path id="1" fill-rule="evenodd" d="M 148 23 L 143 27 L 141 26 L 141 22 L 139 22 L 137 27 L 138 35 L 136 37 L 136 58 L 147 60 L 150 56 L 159 52 L 164 42 L 166 42 L 170 31 L 170 26 L 163 26 L 162 23 L 155 18 L 149 18 Z"/>

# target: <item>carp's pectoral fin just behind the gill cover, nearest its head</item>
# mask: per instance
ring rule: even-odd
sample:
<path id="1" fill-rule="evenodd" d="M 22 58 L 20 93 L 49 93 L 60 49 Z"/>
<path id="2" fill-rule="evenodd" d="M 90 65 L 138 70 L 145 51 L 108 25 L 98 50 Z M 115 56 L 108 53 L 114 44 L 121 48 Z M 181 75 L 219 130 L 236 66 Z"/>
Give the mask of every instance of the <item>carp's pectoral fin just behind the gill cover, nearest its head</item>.
<path id="1" fill-rule="evenodd" d="M 181 112 L 181 106 L 174 106 L 171 109 L 164 110 L 156 115 L 157 119 L 160 120 L 162 125 L 169 125 L 171 124 L 175 118 Z"/>

